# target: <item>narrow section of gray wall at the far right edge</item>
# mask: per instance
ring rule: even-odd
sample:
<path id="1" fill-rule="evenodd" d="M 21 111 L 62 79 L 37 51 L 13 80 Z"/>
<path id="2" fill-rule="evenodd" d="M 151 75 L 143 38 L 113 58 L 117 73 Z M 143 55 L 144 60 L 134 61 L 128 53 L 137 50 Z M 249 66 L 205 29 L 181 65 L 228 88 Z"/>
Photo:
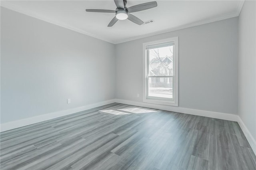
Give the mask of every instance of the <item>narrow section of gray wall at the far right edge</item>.
<path id="1" fill-rule="evenodd" d="M 256 140 L 256 1 L 244 2 L 238 23 L 238 114 Z"/>

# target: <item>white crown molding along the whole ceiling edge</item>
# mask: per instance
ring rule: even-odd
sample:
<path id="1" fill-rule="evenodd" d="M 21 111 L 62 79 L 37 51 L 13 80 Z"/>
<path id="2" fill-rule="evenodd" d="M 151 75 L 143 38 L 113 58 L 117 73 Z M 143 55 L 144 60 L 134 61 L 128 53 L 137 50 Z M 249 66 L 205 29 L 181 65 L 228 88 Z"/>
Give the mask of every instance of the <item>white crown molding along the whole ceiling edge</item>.
<path id="1" fill-rule="evenodd" d="M 97 36 L 95 34 L 92 34 L 92 33 L 89 33 L 89 32 L 86 32 L 86 31 L 74 28 L 72 26 L 68 26 L 66 24 L 63 24 L 63 23 L 60 23 L 60 22 L 57 22 L 57 21 L 54 21 L 54 20 L 49 20 L 49 19 L 42 18 L 41 16 L 38 16 L 36 14 L 32 14 L 29 11 L 23 10 L 22 8 L 20 8 L 18 6 L 10 4 L 6 0 L 1 1 L 1 6 L 4 7 L 4 8 L 7 8 L 9 10 L 13 10 L 13 11 L 25 14 L 27 16 L 31 16 L 33 18 L 37 18 L 39 20 L 43 20 L 45 22 L 49 22 L 51 24 L 54 24 L 54 25 L 57 25 L 57 26 L 60 26 L 60 27 L 63 27 L 63 28 L 67 28 L 67 29 L 75 31 L 75 32 L 79 32 L 81 34 L 85 34 L 87 36 L 91 36 L 91 37 L 94 37 L 94 38 L 97 38 L 97 39 L 100 39 L 100 40 L 103 40 L 103 41 L 106 41 L 106 42 L 109 42 L 109 43 L 118 44 L 118 43 L 129 42 L 129 41 L 132 41 L 132 40 L 138 40 L 138 39 L 146 38 L 146 37 L 150 37 L 150 36 L 156 36 L 158 34 L 164 34 L 164 33 L 167 33 L 167 32 L 173 32 L 173 31 L 177 31 L 177 30 L 182 30 L 182 29 L 190 28 L 190 27 L 194 27 L 194 26 L 200 26 L 200 25 L 203 25 L 203 24 L 208 24 L 208 23 L 211 23 L 211 22 L 225 20 L 225 19 L 228 19 L 228 18 L 237 17 L 237 16 L 239 16 L 239 14 L 240 14 L 240 12 L 242 10 L 242 7 L 244 5 L 244 1 L 245 0 L 238 0 L 238 5 L 236 7 L 236 11 L 232 12 L 232 13 L 229 13 L 229 14 L 226 14 L 226 15 L 222 15 L 222 16 L 218 16 L 218 17 L 213 17 L 213 18 L 208 18 L 206 20 L 202 20 L 202 21 L 199 21 L 199 22 L 193 22 L 193 23 L 182 25 L 182 26 L 177 26 L 177 27 L 174 27 L 174 28 L 169 28 L 169 29 L 166 29 L 166 30 L 160 30 L 160 31 L 157 31 L 157 32 L 152 32 L 150 34 L 144 34 L 144 35 L 140 35 L 140 36 L 134 36 L 134 37 L 131 37 L 131 38 L 125 38 L 123 40 L 118 40 L 118 41 L 104 39 L 104 38 L 102 38 L 100 36 Z"/>

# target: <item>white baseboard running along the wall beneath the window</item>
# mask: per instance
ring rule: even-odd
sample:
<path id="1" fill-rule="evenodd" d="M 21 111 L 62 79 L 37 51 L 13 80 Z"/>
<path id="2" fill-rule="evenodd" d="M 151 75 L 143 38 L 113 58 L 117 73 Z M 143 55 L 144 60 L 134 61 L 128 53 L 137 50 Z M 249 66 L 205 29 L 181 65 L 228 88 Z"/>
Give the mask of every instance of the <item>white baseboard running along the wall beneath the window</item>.
<path id="1" fill-rule="evenodd" d="M 172 112 L 178 112 L 178 113 L 186 113 L 190 115 L 211 117 L 211 118 L 223 119 L 227 121 L 236 121 L 236 122 L 238 121 L 238 115 L 228 114 L 228 113 L 202 111 L 202 110 L 196 110 L 196 109 L 188 109 L 183 107 L 173 107 L 173 106 L 165 106 L 165 105 L 155 105 L 150 103 L 142 103 L 142 102 L 136 102 L 136 101 L 122 100 L 122 99 L 116 99 L 116 103 L 123 103 L 127 105 L 135 105 L 140 107 L 149 107 L 152 109 L 160 109 L 160 110 L 172 111 Z"/>

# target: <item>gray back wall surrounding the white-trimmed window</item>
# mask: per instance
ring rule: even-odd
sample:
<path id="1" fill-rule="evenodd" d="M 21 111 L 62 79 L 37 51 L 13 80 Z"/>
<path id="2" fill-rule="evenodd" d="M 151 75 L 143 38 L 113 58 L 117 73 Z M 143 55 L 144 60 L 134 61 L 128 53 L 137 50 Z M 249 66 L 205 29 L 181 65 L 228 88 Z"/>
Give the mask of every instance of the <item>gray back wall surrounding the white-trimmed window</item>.
<path id="1" fill-rule="evenodd" d="M 116 98 L 142 102 L 142 43 L 176 36 L 179 107 L 237 114 L 237 17 L 117 44 Z"/>

